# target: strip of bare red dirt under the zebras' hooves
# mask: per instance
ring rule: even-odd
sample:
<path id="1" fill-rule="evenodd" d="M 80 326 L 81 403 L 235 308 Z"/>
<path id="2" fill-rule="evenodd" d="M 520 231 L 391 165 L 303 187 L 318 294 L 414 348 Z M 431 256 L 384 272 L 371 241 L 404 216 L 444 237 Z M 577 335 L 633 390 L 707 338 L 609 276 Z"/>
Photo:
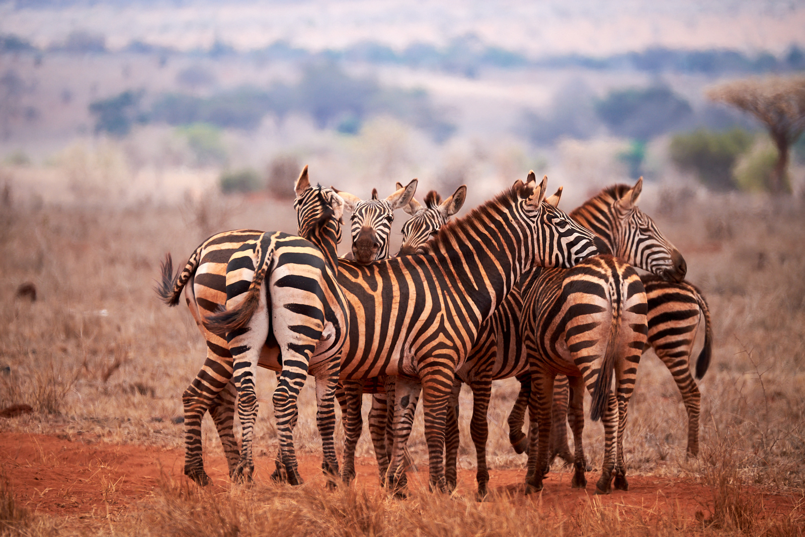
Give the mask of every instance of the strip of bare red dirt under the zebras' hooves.
<path id="1" fill-rule="evenodd" d="M 371 459 L 358 462 L 357 481 L 367 488 L 378 487 L 377 466 Z M 227 485 L 223 456 L 205 461 L 213 482 Z M 4 433 L 0 436 L 0 466 L 10 481 L 18 505 L 39 514 L 81 515 L 124 510 L 146 498 L 164 477 L 183 480 L 184 452 L 136 445 L 63 440 L 56 436 Z M 256 481 L 268 481 L 274 463 L 270 457 L 256 461 Z M 320 459 L 300 456 L 299 470 L 306 481 L 321 476 Z M 506 494 L 512 502 L 526 502 L 523 470 L 492 470 L 492 494 Z M 571 473 L 551 473 L 542 493 L 542 505 L 558 506 L 564 512 L 584 505 L 595 490 L 596 473 L 588 473 L 586 490 L 570 488 Z M 458 494 L 472 498 L 473 470 L 460 470 Z M 712 490 L 696 481 L 670 477 L 629 477 L 628 492 L 613 491 L 601 498 L 603 505 L 635 508 L 675 509 L 691 518 L 696 511 L 709 516 Z M 426 486 L 427 471 L 409 473 L 409 486 Z M 535 498 L 538 499 L 538 498 Z M 797 505 L 793 495 L 764 494 L 766 514 L 791 512 Z"/>

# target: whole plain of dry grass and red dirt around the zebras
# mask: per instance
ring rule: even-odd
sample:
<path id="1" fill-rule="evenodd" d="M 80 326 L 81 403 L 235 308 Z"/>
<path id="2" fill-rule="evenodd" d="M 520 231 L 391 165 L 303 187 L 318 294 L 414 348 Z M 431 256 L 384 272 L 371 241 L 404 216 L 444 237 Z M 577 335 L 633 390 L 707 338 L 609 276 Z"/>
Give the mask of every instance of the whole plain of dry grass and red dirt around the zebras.
<path id="1" fill-rule="evenodd" d="M 551 181 L 555 187 L 561 178 Z M 460 483 L 451 495 L 427 490 L 421 415 L 409 444 L 407 499 L 378 486 L 368 431 L 358 445 L 357 480 L 328 489 L 318 470 L 312 382 L 295 429 L 306 482 L 273 483 L 275 375 L 268 371 L 258 377 L 254 484 L 229 481 L 208 418 L 204 453 L 213 485 L 200 488 L 184 477 L 180 397 L 205 347 L 184 304 L 167 308 L 157 299 L 159 261 L 171 252 L 184 263 L 223 229 L 293 232 L 290 201 L 210 196 L 113 209 L 22 201 L 13 185 L 0 194 L 0 408 L 31 407 L 0 418 L 0 535 L 803 534 L 803 200 L 646 188 L 642 209 L 683 253 L 687 279 L 712 314 L 712 363 L 699 382 L 698 457 L 685 456 L 679 391 L 649 351 L 625 437 L 630 491 L 595 497 L 592 485 L 571 490 L 569 469 L 555 462 L 543 492 L 526 497 L 525 455 L 510 448 L 506 426 L 518 382 L 495 382 L 492 492 L 477 502 L 466 389 Z M 399 213 L 395 230 L 403 219 Z M 700 327 L 694 359 L 702 333 Z M 595 476 L 600 423 L 586 424 L 585 443 Z"/>

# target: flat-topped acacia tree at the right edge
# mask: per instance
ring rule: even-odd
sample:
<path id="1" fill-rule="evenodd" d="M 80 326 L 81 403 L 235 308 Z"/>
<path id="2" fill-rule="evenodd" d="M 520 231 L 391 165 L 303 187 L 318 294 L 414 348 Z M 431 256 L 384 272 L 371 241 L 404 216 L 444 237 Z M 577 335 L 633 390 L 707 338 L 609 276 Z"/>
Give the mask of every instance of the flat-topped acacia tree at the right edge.
<path id="1" fill-rule="evenodd" d="M 805 129 L 805 76 L 728 82 L 708 91 L 708 97 L 749 112 L 769 130 L 778 158 L 769 178 L 771 192 L 791 192 L 786 176 L 788 150 Z"/>

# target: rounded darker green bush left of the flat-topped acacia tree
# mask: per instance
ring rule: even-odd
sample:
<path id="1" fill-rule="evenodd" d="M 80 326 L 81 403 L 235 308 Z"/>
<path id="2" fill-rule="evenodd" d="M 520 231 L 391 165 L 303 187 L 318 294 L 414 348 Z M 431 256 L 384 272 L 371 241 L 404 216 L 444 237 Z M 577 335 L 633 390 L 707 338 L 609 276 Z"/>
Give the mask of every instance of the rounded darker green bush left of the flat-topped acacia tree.
<path id="1" fill-rule="evenodd" d="M 733 167 L 738 157 L 752 146 L 753 138 L 753 134 L 738 128 L 677 134 L 671 138 L 671 159 L 683 170 L 694 171 L 709 188 L 731 190 L 737 187 Z"/>

